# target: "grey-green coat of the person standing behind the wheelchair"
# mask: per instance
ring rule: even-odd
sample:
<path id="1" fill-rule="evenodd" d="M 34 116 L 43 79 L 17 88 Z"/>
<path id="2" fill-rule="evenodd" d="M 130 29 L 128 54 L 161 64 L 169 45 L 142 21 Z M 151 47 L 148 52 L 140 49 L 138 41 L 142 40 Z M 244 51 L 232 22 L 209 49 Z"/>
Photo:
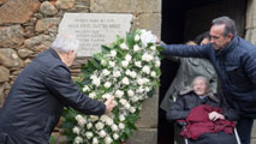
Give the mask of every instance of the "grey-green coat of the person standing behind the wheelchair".
<path id="1" fill-rule="evenodd" d="M 209 60 L 203 58 L 193 57 L 167 57 L 174 61 L 180 62 L 180 68 L 176 77 L 172 81 L 172 84 L 165 93 L 164 99 L 161 102 L 160 108 L 167 111 L 169 110 L 175 98 L 177 98 L 178 92 L 184 87 L 190 86 L 193 79 L 196 76 L 204 76 L 210 82 L 211 91 L 217 93 L 217 74 L 214 67 Z"/>

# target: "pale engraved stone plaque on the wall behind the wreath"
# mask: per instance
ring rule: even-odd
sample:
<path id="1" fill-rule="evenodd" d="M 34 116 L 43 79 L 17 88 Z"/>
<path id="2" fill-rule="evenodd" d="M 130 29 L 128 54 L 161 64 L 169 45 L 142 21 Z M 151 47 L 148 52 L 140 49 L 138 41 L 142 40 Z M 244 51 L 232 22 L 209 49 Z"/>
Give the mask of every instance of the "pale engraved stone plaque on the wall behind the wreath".
<path id="1" fill-rule="evenodd" d="M 131 27 L 132 14 L 65 13 L 59 33 L 75 34 L 80 41 L 78 57 L 91 57 L 110 44 L 116 35 L 124 37 Z"/>

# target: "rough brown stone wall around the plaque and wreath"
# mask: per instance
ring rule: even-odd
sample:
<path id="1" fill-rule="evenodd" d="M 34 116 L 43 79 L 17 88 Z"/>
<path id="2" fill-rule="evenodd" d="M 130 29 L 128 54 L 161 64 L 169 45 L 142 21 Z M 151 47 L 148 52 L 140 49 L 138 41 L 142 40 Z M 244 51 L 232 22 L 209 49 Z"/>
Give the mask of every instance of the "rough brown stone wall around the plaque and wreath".
<path id="1" fill-rule="evenodd" d="M 64 12 L 133 14 L 132 29 L 160 37 L 161 0 L 0 0 L 0 107 L 22 69 L 49 48 Z M 84 62 L 76 59 L 72 76 Z M 156 143 L 157 105 L 158 93 L 144 103 L 139 131 L 127 143 Z"/>

